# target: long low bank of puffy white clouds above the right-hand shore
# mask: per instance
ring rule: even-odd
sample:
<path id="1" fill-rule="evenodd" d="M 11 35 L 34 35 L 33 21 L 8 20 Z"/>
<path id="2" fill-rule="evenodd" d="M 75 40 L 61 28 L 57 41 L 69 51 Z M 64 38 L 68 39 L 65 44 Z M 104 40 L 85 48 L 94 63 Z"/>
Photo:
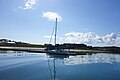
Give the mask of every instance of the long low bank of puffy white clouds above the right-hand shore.
<path id="1" fill-rule="evenodd" d="M 84 44 L 103 44 L 103 45 L 120 45 L 120 36 L 115 33 L 99 36 L 93 32 L 80 33 L 70 32 L 64 36 L 65 42 L 84 43 Z"/>

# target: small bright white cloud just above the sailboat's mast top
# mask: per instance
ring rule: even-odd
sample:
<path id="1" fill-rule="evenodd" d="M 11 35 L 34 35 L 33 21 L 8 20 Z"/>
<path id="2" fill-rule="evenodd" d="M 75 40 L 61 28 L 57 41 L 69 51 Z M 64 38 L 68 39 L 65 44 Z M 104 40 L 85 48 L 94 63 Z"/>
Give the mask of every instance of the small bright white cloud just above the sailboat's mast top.
<path id="1" fill-rule="evenodd" d="M 49 21 L 55 21 L 56 18 L 58 21 L 62 20 L 62 17 L 55 12 L 44 12 L 42 17 L 48 18 Z"/>

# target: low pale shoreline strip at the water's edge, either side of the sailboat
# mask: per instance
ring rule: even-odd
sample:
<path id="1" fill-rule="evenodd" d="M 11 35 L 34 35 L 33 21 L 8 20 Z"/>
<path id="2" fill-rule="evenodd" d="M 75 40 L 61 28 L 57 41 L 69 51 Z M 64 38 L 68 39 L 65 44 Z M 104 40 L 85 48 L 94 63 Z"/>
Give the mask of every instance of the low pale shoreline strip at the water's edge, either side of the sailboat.
<path id="1" fill-rule="evenodd" d="M 47 53 L 46 48 L 35 48 L 35 47 L 1 47 L 0 50 L 3 51 L 24 51 L 24 52 L 35 52 L 35 53 Z M 112 53 L 120 54 L 119 52 L 103 51 L 103 50 L 85 50 L 85 49 L 65 49 L 66 52 L 74 55 L 81 54 L 92 54 L 92 53 Z"/>

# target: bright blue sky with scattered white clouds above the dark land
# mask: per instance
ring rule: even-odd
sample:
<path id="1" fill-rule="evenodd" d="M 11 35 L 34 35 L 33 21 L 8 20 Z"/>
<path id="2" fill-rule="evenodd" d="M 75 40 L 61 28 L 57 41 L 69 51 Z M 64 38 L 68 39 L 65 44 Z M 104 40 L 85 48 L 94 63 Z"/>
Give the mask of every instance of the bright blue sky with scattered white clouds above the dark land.
<path id="1" fill-rule="evenodd" d="M 120 46 L 119 4 L 120 0 L 0 0 L 0 39 L 49 43 L 58 18 L 57 43 Z"/>

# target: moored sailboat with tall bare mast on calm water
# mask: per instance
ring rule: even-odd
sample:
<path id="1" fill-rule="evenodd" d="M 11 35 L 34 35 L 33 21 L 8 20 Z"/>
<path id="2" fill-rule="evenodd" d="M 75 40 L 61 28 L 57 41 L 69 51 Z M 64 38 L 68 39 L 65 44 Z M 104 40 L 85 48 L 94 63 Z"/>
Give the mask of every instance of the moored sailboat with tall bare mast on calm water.
<path id="1" fill-rule="evenodd" d="M 55 42 L 54 45 L 56 46 L 56 42 L 57 42 L 57 18 L 56 18 L 56 22 L 55 22 L 55 31 L 54 31 L 54 37 L 55 37 Z M 54 55 L 68 55 L 68 52 L 64 51 L 63 49 L 60 48 L 55 48 L 54 50 L 47 50 L 48 54 L 54 54 Z"/>

